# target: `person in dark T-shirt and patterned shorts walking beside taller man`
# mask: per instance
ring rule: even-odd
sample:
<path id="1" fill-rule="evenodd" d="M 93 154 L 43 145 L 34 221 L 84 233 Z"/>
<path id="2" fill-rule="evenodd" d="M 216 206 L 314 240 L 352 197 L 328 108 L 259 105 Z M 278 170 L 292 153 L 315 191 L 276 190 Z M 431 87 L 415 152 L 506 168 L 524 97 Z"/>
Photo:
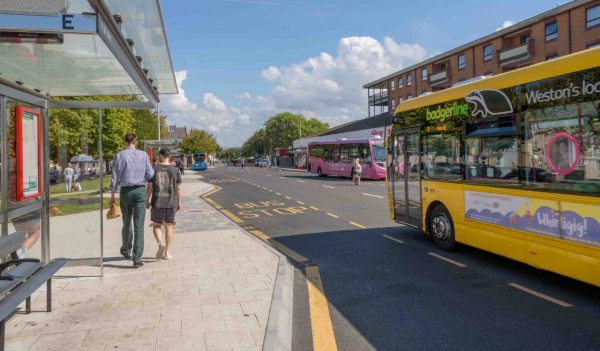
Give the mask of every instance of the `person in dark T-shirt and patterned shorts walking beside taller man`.
<path id="1" fill-rule="evenodd" d="M 181 209 L 181 174 L 177 167 L 171 165 L 169 150 L 160 149 L 158 158 L 159 163 L 154 166 L 154 177 L 148 182 L 146 207 L 151 208 L 152 232 L 158 242 L 156 259 L 168 260 L 173 257 L 171 248 L 175 213 Z M 162 240 L 161 227 L 163 225 L 165 226 L 166 244 Z"/>

